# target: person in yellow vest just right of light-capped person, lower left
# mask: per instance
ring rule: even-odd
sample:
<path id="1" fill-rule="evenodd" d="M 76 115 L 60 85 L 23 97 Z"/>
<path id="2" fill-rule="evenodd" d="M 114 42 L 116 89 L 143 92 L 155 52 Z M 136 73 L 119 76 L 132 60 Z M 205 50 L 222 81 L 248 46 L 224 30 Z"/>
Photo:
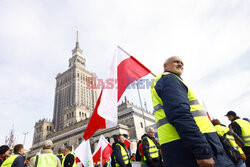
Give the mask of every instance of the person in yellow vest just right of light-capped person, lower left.
<path id="1" fill-rule="evenodd" d="M 71 153 L 72 147 L 66 146 L 64 148 L 64 157 L 62 161 L 62 167 L 77 167 L 76 165 L 76 157 L 73 153 Z"/>

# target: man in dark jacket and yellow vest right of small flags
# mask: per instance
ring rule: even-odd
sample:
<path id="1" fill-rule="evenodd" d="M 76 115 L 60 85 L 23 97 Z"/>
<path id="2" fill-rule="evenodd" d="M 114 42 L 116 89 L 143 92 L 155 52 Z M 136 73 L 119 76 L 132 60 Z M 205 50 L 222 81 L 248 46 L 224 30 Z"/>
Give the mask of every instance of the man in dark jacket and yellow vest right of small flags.
<path id="1" fill-rule="evenodd" d="M 131 167 L 129 153 L 124 141 L 124 136 L 119 134 L 113 150 L 113 159 L 116 167 Z"/>

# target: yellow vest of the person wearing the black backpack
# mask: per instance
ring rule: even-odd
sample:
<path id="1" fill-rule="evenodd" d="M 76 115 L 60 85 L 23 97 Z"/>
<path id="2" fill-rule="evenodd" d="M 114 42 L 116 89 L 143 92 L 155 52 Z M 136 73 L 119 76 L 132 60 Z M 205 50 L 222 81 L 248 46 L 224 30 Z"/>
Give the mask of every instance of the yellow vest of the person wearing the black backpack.
<path id="1" fill-rule="evenodd" d="M 229 132 L 229 128 L 221 125 L 215 125 L 215 130 L 218 133 L 220 137 L 224 136 L 225 133 Z M 238 146 L 238 144 L 235 142 L 234 137 L 232 135 L 226 135 L 226 138 L 229 140 L 231 146 L 238 150 L 240 154 L 243 154 L 242 149 Z"/>

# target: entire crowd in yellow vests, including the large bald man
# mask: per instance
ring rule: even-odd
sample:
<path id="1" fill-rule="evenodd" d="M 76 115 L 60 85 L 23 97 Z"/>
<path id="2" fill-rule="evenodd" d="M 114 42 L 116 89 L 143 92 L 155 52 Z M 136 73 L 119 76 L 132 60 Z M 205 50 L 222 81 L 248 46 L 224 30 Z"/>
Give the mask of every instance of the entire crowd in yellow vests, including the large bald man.
<path id="1" fill-rule="evenodd" d="M 250 167 L 249 120 L 234 111 L 225 115 L 231 121 L 228 127 L 210 120 L 182 80 L 183 67 L 179 57 L 168 58 L 164 73 L 151 86 L 158 138 L 149 128 L 131 156 L 124 136 L 118 135 L 106 166 L 131 167 L 132 161 L 138 161 L 142 167 Z M 1 167 L 76 167 L 72 147 L 66 146 L 57 156 L 52 148 L 52 141 L 46 141 L 41 154 L 29 160 L 23 156 L 23 145 L 16 145 L 11 156 L 9 147 L 1 146 Z"/>

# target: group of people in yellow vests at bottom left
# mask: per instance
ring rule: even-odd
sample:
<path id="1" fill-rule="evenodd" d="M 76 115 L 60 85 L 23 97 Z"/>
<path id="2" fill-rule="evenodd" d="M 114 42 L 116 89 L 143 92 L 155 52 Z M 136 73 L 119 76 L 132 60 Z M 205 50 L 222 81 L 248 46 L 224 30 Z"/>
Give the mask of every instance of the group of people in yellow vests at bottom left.
<path id="1" fill-rule="evenodd" d="M 13 154 L 7 145 L 3 145 L 0 147 L 0 167 L 77 167 L 76 157 L 71 151 L 72 146 L 65 146 L 55 155 L 53 142 L 46 140 L 40 154 L 26 157 L 22 144 L 14 146 Z"/>

